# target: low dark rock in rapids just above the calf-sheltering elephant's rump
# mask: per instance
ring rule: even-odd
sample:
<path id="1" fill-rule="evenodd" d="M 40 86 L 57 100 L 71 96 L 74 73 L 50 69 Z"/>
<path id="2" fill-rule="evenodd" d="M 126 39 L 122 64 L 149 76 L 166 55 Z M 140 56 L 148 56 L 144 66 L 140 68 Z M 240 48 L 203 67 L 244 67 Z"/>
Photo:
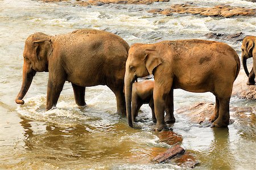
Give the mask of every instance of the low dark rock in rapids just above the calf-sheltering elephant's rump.
<path id="1" fill-rule="evenodd" d="M 242 32 L 234 33 L 231 35 L 223 33 L 210 32 L 204 35 L 208 39 L 226 40 L 226 41 L 242 41 L 246 35 Z"/>

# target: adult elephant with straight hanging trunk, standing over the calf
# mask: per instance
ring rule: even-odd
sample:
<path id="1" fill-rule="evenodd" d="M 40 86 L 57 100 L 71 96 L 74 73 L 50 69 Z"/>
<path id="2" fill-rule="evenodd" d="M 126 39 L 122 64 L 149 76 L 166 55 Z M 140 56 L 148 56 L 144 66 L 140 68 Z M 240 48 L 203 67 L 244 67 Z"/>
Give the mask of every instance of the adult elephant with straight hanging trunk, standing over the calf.
<path id="1" fill-rule="evenodd" d="M 131 87 L 137 77 L 153 74 L 155 78 L 155 130 L 166 128 L 164 106 L 173 107 L 173 90 L 212 92 L 216 107 L 213 126 L 229 124 L 229 100 L 233 82 L 240 70 L 237 53 L 227 44 L 206 40 L 163 41 L 134 44 L 129 50 L 125 72 L 126 114 L 131 120 Z M 173 114 L 173 113 L 172 113 Z"/>

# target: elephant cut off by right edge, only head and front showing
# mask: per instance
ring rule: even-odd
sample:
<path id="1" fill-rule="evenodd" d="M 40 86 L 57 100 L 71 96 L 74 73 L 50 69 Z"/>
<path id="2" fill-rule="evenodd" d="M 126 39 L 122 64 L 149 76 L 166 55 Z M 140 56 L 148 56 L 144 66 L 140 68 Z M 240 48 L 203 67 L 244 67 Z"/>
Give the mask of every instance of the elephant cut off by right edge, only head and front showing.
<path id="1" fill-rule="evenodd" d="M 243 69 L 245 69 L 246 75 L 249 77 L 247 81 L 247 85 L 254 85 L 255 84 L 255 73 L 256 73 L 256 37 L 254 36 L 247 36 L 243 39 L 242 42 L 242 63 Z M 251 69 L 250 73 L 247 69 L 246 60 L 250 57 L 253 57 L 253 69 Z"/>

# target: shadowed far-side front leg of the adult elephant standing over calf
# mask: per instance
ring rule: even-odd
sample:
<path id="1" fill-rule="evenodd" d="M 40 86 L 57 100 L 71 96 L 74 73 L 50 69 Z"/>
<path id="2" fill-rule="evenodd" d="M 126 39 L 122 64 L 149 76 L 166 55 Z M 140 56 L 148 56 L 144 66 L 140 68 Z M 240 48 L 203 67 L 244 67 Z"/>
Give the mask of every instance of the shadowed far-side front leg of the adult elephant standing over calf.
<path id="1" fill-rule="evenodd" d="M 164 117 L 164 121 L 167 124 L 172 124 L 175 122 L 174 117 L 174 90 L 171 89 L 170 94 L 167 97 L 166 101 L 166 117 Z"/>

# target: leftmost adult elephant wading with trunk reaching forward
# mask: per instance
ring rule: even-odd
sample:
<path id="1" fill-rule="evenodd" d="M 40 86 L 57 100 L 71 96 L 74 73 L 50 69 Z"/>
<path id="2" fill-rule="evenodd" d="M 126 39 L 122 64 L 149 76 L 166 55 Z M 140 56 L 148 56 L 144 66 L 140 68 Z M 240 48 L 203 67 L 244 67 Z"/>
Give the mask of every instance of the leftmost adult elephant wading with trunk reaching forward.
<path id="1" fill-rule="evenodd" d="M 23 83 L 17 104 L 24 104 L 37 71 L 49 72 L 46 109 L 54 107 L 65 81 L 72 83 L 77 105 L 85 105 L 85 87 L 106 85 L 117 98 L 117 112 L 125 115 L 123 78 L 129 45 L 113 33 L 79 29 L 64 35 L 34 33 L 25 42 Z"/>

